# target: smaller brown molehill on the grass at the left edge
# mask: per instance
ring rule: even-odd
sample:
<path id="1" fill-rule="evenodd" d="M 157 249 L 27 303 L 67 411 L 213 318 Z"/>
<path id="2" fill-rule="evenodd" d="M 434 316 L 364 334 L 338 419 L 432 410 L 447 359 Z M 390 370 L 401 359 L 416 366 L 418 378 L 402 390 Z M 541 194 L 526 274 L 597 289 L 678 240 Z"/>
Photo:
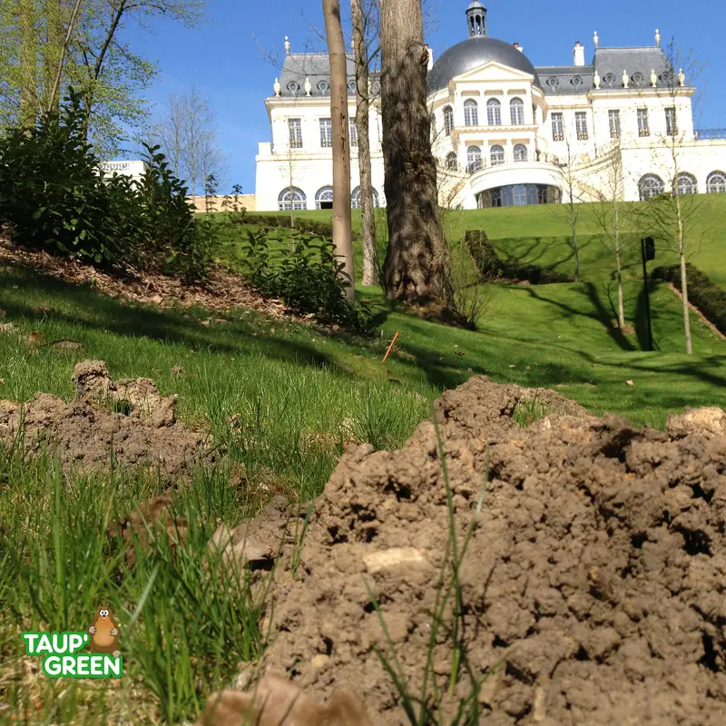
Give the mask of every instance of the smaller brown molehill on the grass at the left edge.
<path id="1" fill-rule="evenodd" d="M 113 451 L 115 464 L 176 475 L 202 451 L 204 437 L 176 420 L 176 396 L 161 397 L 150 378 L 113 382 L 103 360 L 78 363 L 73 378 L 70 403 L 46 393 L 0 401 L 0 442 L 12 446 L 22 428 L 26 454 L 50 446 L 76 471 L 109 466 Z"/>

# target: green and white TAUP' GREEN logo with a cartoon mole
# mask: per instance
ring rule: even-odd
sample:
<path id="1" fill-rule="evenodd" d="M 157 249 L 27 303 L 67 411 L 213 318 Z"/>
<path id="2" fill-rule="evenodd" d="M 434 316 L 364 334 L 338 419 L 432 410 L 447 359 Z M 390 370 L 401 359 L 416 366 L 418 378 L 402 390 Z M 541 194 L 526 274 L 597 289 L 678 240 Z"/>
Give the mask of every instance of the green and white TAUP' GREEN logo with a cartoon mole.
<path id="1" fill-rule="evenodd" d="M 101 605 L 87 632 L 21 633 L 25 654 L 43 658 L 48 678 L 121 678 L 123 658 L 113 610 Z M 81 649 L 90 643 L 88 652 Z"/>

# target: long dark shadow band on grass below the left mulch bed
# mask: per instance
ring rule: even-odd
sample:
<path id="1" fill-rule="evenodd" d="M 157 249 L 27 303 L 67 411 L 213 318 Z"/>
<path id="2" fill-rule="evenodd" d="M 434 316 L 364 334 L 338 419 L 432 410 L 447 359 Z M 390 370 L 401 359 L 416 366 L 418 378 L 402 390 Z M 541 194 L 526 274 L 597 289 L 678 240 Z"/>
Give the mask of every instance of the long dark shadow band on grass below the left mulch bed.
<path id="1" fill-rule="evenodd" d="M 17 285 L 26 293 L 25 298 L 38 296 L 48 299 L 54 307 L 34 307 L 21 296 L 8 289 Z M 65 305 L 78 312 L 64 312 Z M 73 325 L 87 330 L 111 332 L 124 338 L 149 338 L 162 343 L 179 344 L 190 350 L 245 356 L 249 354 L 251 328 L 244 321 L 233 321 L 221 329 L 204 327 L 194 319 L 194 310 L 156 309 L 151 306 L 127 303 L 96 292 L 89 285 L 76 285 L 55 280 L 25 268 L 0 269 L 0 306 L 10 319 L 51 321 Z M 199 310 L 197 310 L 198 312 Z M 189 315 L 185 319 L 184 314 Z M 296 361 L 315 368 L 329 368 L 345 373 L 328 356 L 311 346 L 272 335 L 260 335 L 255 329 L 255 342 L 264 344 L 264 355 L 280 360 Z M 232 338 L 232 333 L 240 333 Z M 260 346 L 261 348 L 261 346 Z"/>

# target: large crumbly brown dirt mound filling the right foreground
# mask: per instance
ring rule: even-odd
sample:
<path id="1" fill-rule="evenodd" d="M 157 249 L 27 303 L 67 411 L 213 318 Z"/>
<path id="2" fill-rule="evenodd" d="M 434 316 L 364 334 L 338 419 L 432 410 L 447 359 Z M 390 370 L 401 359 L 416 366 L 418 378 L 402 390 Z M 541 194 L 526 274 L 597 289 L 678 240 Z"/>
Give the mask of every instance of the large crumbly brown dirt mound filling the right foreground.
<path id="1" fill-rule="evenodd" d="M 434 684 L 444 694 L 441 722 L 471 692 L 464 663 L 486 676 L 481 722 L 726 722 L 726 437 L 617 417 L 523 429 L 512 420 L 523 395 L 472 378 L 437 402 L 459 548 L 486 482 L 460 568 L 451 698 L 452 607 L 435 638 L 427 696 Z M 391 657 L 371 593 L 418 697 L 449 541 L 431 423 L 400 451 L 351 446 L 294 579 L 290 552 L 274 575 L 265 666 L 316 697 L 358 692 L 377 723 L 407 723 L 373 649 Z"/>

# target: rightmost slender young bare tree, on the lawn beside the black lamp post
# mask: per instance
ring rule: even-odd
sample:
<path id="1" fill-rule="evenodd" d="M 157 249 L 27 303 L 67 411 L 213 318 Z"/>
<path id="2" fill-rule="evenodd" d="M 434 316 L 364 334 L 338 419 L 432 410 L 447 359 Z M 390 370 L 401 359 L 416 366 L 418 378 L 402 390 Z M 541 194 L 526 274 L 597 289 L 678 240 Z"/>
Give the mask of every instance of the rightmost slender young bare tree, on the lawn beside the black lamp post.
<path id="1" fill-rule="evenodd" d="M 676 69 L 679 69 L 677 73 Z M 650 227 L 654 236 L 661 238 L 678 255 L 687 355 L 692 354 L 693 347 L 686 263 L 697 240 L 697 221 L 703 198 L 696 196 L 695 180 L 686 172 L 685 157 L 693 136 L 690 123 L 682 115 L 685 110 L 682 99 L 692 97 L 694 88 L 687 82 L 692 82 L 701 70 L 701 64 L 692 53 L 683 54 L 675 40 L 668 46 L 662 73 L 659 75 L 653 69 L 651 85 L 661 102 L 665 122 L 652 130 L 653 164 L 662 174 L 662 188 L 642 187 L 641 196 L 647 198 L 647 204 L 639 210 L 643 215 L 643 226 Z"/>

